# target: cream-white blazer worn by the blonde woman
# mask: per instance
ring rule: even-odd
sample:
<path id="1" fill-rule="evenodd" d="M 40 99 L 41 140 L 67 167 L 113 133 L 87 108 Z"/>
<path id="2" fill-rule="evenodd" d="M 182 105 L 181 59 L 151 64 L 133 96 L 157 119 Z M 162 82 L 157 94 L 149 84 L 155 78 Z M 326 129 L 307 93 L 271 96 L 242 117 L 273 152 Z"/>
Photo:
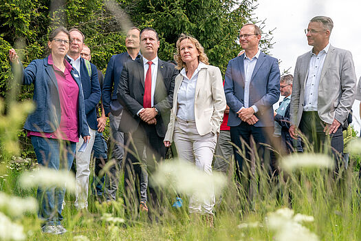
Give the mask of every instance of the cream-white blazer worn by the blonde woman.
<path id="1" fill-rule="evenodd" d="M 175 118 L 178 110 L 178 91 L 183 79 L 182 74 L 178 74 L 175 78 L 171 120 L 164 138 L 164 141 L 171 143 L 173 142 Z M 199 70 L 195 86 L 195 125 L 198 134 L 204 136 L 210 132 L 219 133 L 225 109 L 226 96 L 223 90 L 221 70 L 219 67 L 205 65 Z"/>

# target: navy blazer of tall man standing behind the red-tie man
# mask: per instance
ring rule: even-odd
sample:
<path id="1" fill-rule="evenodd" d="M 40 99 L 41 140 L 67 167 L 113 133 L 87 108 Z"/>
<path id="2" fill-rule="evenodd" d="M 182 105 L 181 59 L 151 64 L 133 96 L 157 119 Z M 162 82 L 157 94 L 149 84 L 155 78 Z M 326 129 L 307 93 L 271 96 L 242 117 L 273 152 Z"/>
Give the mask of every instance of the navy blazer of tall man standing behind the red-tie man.
<path id="1" fill-rule="evenodd" d="M 138 54 L 137 59 L 141 56 Z M 111 112 L 110 103 L 116 101 L 117 90 L 119 85 L 120 76 L 122 74 L 124 63 L 132 61 L 128 52 L 116 54 L 111 56 L 105 73 L 104 84 L 102 87 L 102 104 L 104 107 L 105 115 L 108 116 Z"/>

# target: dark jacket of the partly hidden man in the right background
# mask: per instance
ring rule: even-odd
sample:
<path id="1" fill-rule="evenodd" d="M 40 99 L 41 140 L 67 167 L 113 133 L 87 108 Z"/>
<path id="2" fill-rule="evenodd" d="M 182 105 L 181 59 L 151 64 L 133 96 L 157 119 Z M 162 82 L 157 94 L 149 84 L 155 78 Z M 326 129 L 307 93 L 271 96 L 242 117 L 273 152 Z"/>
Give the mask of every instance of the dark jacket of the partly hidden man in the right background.
<path id="1" fill-rule="evenodd" d="M 281 125 L 281 144 L 288 153 L 294 151 L 303 152 L 300 136 L 298 136 L 297 140 L 294 140 L 294 138 L 289 135 L 289 127 L 291 126 L 291 123 L 289 122 L 289 105 L 286 107 L 285 116 L 276 114 L 276 116 L 274 116 L 274 121 Z"/>

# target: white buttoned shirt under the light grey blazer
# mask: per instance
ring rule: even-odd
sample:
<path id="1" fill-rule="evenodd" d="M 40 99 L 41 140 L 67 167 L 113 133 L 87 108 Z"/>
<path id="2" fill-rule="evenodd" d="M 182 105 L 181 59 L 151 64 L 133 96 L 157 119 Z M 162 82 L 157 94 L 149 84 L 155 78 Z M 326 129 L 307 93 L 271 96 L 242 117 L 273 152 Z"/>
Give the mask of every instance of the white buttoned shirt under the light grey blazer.
<path id="1" fill-rule="evenodd" d="M 316 112 L 318 104 L 318 85 L 323 64 L 329 51 L 330 43 L 321 50 L 317 55 L 311 50 L 311 60 L 309 61 L 308 76 L 305 87 L 305 102 L 303 103 L 303 110 L 305 112 Z"/>

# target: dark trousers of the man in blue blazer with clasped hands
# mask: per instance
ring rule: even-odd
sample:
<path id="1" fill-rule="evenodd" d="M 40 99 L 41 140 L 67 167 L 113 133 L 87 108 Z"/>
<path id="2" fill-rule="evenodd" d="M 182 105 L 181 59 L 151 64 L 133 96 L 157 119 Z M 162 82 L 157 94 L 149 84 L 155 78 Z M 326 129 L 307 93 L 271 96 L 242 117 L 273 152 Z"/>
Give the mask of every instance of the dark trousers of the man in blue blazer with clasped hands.
<path id="1" fill-rule="evenodd" d="M 258 153 L 261 165 L 267 169 L 269 175 L 272 175 L 276 167 L 270 161 L 270 149 L 263 144 L 270 145 L 269 135 L 272 135 L 273 132 L 274 127 L 255 127 L 245 122 L 241 122 L 237 127 L 230 127 L 230 139 L 238 147 L 233 147 L 233 151 L 239 180 L 241 180 L 242 174 L 246 178 L 250 178 L 251 158 L 253 156 L 251 154 L 256 155 L 255 152 Z M 253 149 L 250 149 L 251 136 L 256 145 Z"/>

